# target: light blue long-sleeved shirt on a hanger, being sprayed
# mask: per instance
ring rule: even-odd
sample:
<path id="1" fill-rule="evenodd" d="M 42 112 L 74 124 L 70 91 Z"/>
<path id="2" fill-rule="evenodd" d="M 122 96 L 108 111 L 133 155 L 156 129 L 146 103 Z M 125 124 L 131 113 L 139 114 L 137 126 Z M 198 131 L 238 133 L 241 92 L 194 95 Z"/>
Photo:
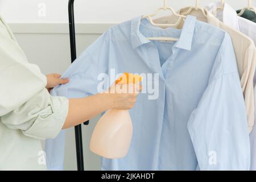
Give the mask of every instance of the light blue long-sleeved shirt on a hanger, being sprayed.
<path id="1" fill-rule="evenodd" d="M 179 40 L 146 39 L 152 36 Z M 87 48 L 63 75 L 71 81 L 52 93 L 68 98 L 96 94 L 97 76 L 110 75 L 110 69 L 159 73 L 159 97 L 149 100 L 149 93 L 139 94 L 130 110 L 134 133 L 127 156 L 102 159 L 101 169 L 250 168 L 245 104 L 233 45 L 225 31 L 194 16 L 187 17 L 182 30 L 134 18 L 110 28 Z"/>

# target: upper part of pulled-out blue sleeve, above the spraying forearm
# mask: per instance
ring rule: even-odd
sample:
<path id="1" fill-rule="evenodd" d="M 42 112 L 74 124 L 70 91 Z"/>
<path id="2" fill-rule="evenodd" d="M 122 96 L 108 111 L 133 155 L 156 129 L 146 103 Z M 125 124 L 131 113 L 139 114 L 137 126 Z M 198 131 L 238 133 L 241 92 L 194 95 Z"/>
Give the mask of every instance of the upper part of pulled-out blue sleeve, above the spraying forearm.
<path id="1" fill-rule="evenodd" d="M 51 94 L 82 98 L 98 93 L 98 76 L 108 71 L 108 31 L 89 46 L 65 71 L 63 78 L 70 78 L 68 84 L 56 86 Z M 69 94 L 72 90 L 72 94 Z"/>

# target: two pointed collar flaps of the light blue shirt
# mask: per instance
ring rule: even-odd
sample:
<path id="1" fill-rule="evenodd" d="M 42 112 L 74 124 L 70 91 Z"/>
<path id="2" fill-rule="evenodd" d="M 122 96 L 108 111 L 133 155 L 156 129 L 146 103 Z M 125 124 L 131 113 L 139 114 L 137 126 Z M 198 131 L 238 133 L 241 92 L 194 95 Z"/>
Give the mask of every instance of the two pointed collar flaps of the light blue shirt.
<path id="1" fill-rule="evenodd" d="M 144 35 L 139 31 L 141 25 L 141 16 L 131 20 L 131 45 L 133 48 L 137 48 L 143 44 L 150 43 L 151 41 L 146 39 Z M 193 34 L 195 31 L 196 17 L 188 15 L 185 19 L 183 28 L 181 30 L 180 38 L 175 44 L 175 47 L 191 50 Z"/>

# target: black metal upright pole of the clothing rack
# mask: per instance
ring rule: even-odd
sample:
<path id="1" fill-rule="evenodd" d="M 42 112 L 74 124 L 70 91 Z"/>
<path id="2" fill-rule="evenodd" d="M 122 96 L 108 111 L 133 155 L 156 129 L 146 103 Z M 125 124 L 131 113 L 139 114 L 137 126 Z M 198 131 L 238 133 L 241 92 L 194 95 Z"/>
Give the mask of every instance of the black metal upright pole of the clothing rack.
<path id="1" fill-rule="evenodd" d="M 75 32 L 74 1 L 75 0 L 69 0 L 69 2 L 68 2 L 71 63 L 73 63 L 73 61 L 76 60 L 76 32 Z M 89 121 L 84 122 L 84 125 L 89 125 Z M 77 171 L 84 171 L 84 155 L 82 152 L 82 128 L 81 128 L 81 125 L 75 126 L 75 136 L 76 136 Z"/>

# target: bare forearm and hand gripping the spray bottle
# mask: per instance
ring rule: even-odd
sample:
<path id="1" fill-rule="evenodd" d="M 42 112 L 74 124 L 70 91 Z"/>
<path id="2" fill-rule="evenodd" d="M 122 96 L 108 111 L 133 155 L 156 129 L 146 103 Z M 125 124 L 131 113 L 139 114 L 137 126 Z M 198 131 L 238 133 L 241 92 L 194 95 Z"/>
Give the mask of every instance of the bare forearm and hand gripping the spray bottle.
<path id="1" fill-rule="evenodd" d="M 63 129 L 77 126 L 108 109 L 131 109 L 136 102 L 138 93 L 142 90 L 142 86 L 129 84 L 129 90 L 135 88 L 135 92 L 118 92 L 123 88 L 126 89 L 128 87 L 127 85 L 117 84 L 110 87 L 110 92 L 98 93 L 85 98 L 70 99 L 68 117 Z"/>

